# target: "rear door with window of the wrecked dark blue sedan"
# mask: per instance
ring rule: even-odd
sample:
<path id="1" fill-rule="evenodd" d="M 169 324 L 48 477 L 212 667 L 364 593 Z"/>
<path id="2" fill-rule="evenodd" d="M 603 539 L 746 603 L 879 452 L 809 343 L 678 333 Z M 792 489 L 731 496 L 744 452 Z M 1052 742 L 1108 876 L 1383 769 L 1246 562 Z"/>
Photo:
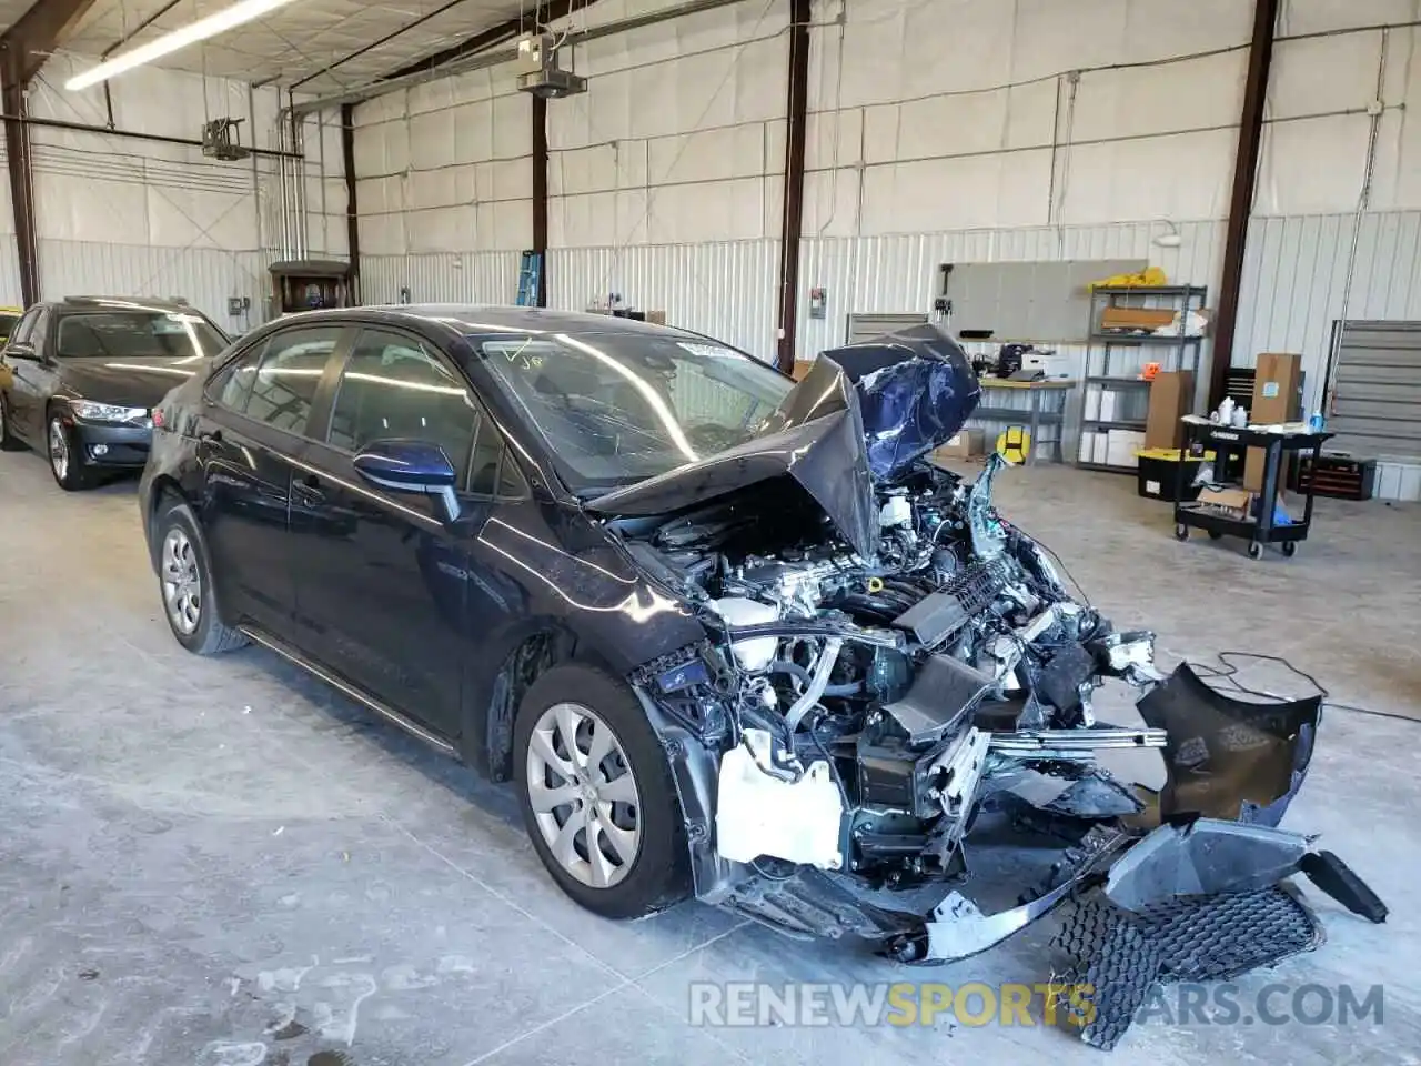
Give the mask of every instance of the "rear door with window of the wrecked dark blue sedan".
<path id="1" fill-rule="evenodd" d="M 207 385 L 199 428 L 203 532 L 217 596 L 293 640 L 290 505 L 321 382 L 340 368 L 341 325 L 293 325 L 237 355 Z"/>

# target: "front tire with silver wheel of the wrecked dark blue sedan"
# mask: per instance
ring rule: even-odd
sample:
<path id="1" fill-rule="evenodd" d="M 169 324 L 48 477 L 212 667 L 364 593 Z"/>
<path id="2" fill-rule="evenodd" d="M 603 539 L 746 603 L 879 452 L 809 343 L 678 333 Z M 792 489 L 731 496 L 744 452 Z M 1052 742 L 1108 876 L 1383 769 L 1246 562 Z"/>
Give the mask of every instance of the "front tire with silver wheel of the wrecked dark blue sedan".
<path id="1" fill-rule="evenodd" d="M 568 759 L 568 725 L 580 763 Z M 587 755 L 598 743 L 608 753 L 590 766 Z M 574 772 L 558 776 L 554 765 Z M 621 681 L 567 664 L 533 682 L 513 726 L 513 779 L 533 849 L 576 903 L 604 918 L 642 918 L 686 898 L 691 874 L 681 802 L 661 742 Z M 554 790 L 566 792 L 568 802 L 551 806 Z M 541 810 L 534 810 L 536 792 L 546 793 L 539 797 Z M 608 793 L 620 799 L 597 799 Z M 587 810 L 594 810 L 591 820 L 581 813 Z M 635 837 L 631 856 L 620 850 L 628 846 L 627 833 Z M 560 841 L 564 858 L 554 851 L 564 850 Z"/>

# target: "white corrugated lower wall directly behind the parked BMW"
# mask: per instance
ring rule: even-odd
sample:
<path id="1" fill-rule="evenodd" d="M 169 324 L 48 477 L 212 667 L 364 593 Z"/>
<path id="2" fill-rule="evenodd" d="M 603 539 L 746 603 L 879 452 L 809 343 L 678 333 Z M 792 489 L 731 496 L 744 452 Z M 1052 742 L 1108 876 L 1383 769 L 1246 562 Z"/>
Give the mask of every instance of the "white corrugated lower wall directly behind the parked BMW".
<path id="1" fill-rule="evenodd" d="M 14 237 L 7 237 L 14 244 Z M 10 256 L 13 262 L 13 253 Z M 40 289 L 65 296 L 180 296 L 217 325 L 242 333 L 266 320 L 269 257 L 212 247 L 149 247 L 40 240 Z M 18 281 L 14 283 L 18 296 Z M 252 300 L 250 316 L 227 316 L 227 298 Z"/>

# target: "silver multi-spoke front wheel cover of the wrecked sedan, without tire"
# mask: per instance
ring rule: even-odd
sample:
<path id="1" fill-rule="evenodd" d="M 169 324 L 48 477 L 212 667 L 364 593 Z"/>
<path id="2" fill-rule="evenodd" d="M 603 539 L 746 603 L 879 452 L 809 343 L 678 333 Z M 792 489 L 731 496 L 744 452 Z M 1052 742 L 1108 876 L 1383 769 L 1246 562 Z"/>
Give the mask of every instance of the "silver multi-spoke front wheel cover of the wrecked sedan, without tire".
<path id="1" fill-rule="evenodd" d="M 554 704 L 533 726 L 529 803 L 543 843 L 571 877 L 611 888 L 641 850 L 641 795 L 627 752 L 601 716 Z"/>

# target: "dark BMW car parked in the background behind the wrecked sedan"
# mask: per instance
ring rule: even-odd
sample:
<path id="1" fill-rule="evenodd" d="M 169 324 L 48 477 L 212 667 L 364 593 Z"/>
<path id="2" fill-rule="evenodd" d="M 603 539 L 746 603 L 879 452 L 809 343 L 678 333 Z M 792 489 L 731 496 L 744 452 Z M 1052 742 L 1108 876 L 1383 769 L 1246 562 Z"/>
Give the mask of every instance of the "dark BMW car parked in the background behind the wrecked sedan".
<path id="1" fill-rule="evenodd" d="M 43 449 L 60 488 L 141 468 L 152 409 L 227 345 L 192 307 L 67 297 L 24 313 L 0 350 L 0 448 Z"/>

